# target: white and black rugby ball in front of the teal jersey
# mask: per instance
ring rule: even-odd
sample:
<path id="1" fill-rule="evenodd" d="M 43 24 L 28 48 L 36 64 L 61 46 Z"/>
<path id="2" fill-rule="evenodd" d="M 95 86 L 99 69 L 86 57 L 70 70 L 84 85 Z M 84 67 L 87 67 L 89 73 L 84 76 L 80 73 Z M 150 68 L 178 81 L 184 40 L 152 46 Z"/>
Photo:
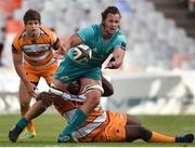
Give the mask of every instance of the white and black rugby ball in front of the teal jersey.
<path id="1" fill-rule="evenodd" d="M 75 46 L 73 52 L 75 62 L 79 64 L 88 63 L 92 57 L 91 49 L 86 44 L 79 44 Z"/>

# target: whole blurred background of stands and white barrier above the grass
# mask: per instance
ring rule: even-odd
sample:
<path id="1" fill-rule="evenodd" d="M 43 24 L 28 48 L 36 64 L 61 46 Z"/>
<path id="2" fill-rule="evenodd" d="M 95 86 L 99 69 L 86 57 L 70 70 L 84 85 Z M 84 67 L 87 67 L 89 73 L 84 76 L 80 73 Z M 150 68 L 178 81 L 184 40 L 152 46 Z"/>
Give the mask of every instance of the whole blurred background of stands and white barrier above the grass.
<path id="1" fill-rule="evenodd" d="M 11 44 L 26 10 L 38 10 L 63 42 L 101 23 L 107 5 L 119 8 L 128 46 L 122 67 L 105 70 L 115 89 L 105 105 L 130 113 L 195 113 L 195 0 L 0 0 L 0 111 L 18 111 Z"/>

